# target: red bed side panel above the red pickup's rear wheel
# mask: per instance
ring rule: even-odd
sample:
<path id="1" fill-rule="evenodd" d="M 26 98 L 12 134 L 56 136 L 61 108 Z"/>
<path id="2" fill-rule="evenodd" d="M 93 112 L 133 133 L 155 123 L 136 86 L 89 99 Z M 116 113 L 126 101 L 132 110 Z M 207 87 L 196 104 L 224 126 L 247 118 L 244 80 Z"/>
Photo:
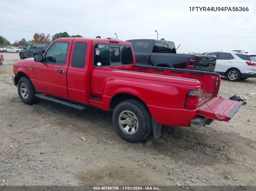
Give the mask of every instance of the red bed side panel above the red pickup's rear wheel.
<path id="1" fill-rule="evenodd" d="M 112 97 L 118 93 L 133 94 L 140 98 L 158 123 L 171 126 L 190 126 L 197 110 L 184 107 L 186 93 L 199 89 L 198 80 L 149 75 L 107 68 L 94 68 L 91 74 L 91 91 L 102 99 L 109 110 Z"/>

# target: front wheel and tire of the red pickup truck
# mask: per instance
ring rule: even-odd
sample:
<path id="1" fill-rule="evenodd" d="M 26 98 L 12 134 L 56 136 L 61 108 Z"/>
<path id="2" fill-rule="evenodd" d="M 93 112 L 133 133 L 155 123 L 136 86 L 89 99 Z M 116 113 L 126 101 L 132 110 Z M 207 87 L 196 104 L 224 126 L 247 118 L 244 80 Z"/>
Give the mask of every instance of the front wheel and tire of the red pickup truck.
<path id="1" fill-rule="evenodd" d="M 21 77 L 19 79 L 18 94 L 22 102 L 28 105 L 34 104 L 38 101 L 38 98 L 35 97 L 35 87 L 27 76 Z"/>

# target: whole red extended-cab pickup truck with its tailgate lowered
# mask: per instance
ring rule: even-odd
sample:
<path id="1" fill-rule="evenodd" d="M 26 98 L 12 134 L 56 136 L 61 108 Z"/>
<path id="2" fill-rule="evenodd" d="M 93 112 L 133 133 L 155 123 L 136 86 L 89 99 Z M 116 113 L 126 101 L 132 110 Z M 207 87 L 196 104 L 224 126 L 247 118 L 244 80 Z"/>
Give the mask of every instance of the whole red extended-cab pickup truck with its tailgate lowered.
<path id="1" fill-rule="evenodd" d="M 161 125 L 227 122 L 243 103 L 217 96 L 217 73 L 136 65 L 131 43 L 112 39 L 56 39 L 43 55 L 15 62 L 12 81 L 26 104 L 113 110 L 116 132 L 130 142 L 151 131 L 158 138 Z"/>

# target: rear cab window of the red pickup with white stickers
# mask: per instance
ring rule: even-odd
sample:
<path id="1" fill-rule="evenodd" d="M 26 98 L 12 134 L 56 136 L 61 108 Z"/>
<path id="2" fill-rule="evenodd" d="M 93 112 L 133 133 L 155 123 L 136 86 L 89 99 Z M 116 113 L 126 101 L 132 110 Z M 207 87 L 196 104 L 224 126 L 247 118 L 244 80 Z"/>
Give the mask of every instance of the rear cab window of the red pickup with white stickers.
<path id="1" fill-rule="evenodd" d="M 133 64 L 131 46 L 114 44 L 95 44 L 94 66 Z"/>

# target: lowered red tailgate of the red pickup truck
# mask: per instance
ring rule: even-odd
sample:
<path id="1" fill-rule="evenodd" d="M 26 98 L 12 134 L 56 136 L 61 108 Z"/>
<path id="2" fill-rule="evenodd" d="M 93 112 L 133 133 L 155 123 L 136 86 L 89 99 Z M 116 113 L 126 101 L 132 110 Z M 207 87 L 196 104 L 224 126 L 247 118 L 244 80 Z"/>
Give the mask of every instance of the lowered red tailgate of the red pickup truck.
<path id="1" fill-rule="evenodd" d="M 218 121 L 229 121 L 243 104 L 242 101 L 213 97 L 197 109 L 198 115 Z"/>

